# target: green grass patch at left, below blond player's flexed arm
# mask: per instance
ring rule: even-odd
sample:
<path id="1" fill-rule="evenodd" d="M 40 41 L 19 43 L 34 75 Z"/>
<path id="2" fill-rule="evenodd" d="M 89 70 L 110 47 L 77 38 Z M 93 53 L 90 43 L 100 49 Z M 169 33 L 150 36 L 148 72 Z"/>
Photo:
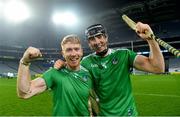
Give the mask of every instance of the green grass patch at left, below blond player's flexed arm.
<path id="1" fill-rule="evenodd" d="M 51 113 L 48 91 L 24 100 L 16 95 L 16 79 L 0 79 L 0 116 L 50 116 Z"/>

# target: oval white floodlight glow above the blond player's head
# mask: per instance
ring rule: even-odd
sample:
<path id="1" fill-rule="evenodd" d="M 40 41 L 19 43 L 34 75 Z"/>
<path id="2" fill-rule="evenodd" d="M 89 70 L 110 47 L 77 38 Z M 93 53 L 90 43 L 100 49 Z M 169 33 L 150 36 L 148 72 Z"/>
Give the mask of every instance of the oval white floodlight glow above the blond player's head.
<path id="1" fill-rule="evenodd" d="M 77 17 L 72 12 L 56 12 L 52 16 L 52 21 L 56 25 L 66 25 L 66 26 L 72 26 L 77 23 Z"/>

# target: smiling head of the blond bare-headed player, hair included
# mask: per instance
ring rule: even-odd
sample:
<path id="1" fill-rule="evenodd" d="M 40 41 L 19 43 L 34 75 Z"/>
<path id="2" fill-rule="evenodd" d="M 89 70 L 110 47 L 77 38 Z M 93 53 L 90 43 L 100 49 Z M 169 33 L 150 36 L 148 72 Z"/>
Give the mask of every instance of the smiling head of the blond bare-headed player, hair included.
<path id="1" fill-rule="evenodd" d="M 67 67 L 72 70 L 79 70 L 80 60 L 83 56 L 79 38 L 64 38 L 61 46 L 62 55 L 67 62 Z"/>

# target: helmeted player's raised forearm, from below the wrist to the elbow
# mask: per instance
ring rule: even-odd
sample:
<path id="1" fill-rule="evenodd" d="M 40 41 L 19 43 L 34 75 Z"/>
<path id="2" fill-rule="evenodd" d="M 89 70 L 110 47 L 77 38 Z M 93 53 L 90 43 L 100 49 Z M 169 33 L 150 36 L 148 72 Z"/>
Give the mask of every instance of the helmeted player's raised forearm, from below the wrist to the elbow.
<path id="1" fill-rule="evenodd" d="M 155 72 L 164 72 L 164 57 L 158 43 L 155 40 L 148 40 L 150 54 L 149 62 Z"/>

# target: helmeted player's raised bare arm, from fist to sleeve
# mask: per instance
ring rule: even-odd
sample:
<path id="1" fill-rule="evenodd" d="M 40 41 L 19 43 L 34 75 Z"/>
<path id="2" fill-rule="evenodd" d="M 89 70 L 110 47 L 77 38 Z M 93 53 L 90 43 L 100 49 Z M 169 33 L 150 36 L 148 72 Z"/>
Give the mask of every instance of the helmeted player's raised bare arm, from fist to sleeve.
<path id="1" fill-rule="evenodd" d="M 138 55 L 134 62 L 134 67 L 142 71 L 163 73 L 165 65 L 164 57 L 160 51 L 160 47 L 155 40 L 145 35 L 146 31 L 153 33 L 151 28 L 149 25 L 142 23 L 137 23 L 136 28 L 137 34 L 148 42 L 150 54 L 149 57 Z"/>

